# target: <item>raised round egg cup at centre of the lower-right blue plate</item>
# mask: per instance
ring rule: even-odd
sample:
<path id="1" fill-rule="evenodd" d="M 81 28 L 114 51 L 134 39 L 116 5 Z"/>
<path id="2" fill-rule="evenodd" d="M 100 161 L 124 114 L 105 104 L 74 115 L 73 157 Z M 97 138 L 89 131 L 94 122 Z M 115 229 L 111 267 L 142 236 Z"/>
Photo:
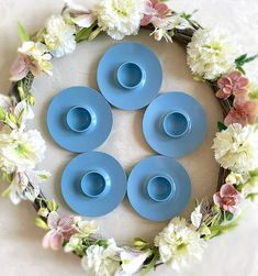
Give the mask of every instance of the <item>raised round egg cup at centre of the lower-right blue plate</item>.
<path id="1" fill-rule="evenodd" d="M 156 202 L 167 201 L 175 192 L 175 184 L 167 175 L 156 175 L 146 183 L 146 191 Z"/>

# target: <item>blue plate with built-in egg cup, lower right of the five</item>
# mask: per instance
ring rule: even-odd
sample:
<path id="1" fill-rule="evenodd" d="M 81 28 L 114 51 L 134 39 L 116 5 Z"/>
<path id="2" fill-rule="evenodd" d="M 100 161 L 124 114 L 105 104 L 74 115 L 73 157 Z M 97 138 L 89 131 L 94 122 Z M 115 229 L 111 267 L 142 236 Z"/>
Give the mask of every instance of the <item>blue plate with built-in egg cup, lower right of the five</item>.
<path id="1" fill-rule="evenodd" d="M 139 162 L 128 177 L 127 196 L 135 211 L 148 220 L 166 221 L 189 202 L 191 181 L 176 159 L 152 156 Z"/>

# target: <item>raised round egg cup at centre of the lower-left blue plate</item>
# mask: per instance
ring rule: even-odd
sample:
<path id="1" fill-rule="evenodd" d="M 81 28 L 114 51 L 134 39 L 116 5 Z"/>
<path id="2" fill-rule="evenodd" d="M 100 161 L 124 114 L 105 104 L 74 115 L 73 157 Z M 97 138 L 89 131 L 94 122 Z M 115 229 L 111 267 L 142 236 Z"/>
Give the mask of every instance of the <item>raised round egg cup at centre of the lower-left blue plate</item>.
<path id="1" fill-rule="evenodd" d="M 105 173 L 90 170 L 81 178 L 80 187 L 87 197 L 103 197 L 110 189 L 110 178 Z"/>

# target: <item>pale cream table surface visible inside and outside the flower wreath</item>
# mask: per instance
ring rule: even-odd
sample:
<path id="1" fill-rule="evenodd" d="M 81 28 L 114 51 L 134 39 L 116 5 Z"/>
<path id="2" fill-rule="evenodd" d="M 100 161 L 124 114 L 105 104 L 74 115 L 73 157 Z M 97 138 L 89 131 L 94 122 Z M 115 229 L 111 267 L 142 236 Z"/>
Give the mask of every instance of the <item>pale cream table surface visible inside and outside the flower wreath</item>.
<path id="1" fill-rule="evenodd" d="M 83 0 L 81 0 L 83 2 Z M 86 0 L 85 0 L 86 2 Z M 93 3 L 96 1 L 88 1 Z M 9 68 L 15 56 L 19 38 L 16 22 L 22 23 L 33 33 L 44 20 L 63 8 L 61 0 L 1 0 L 0 2 L 0 90 L 8 91 Z M 256 54 L 258 44 L 258 3 L 257 0 L 175 0 L 171 7 L 177 11 L 199 12 L 195 18 L 203 25 L 227 29 L 235 36 L 244 53 Z M 36 20 L 35 20 L 36 19 Z M 139 36 L 126 37 L 138 41 L 153 48 L 159 56 L 165 71 L 161 91 L 182 90 L 195 97 L 204 107 L 209 120 L 209 133 L 203 145 L 193 154 L 181 158 L 192 180 L 193 196 L 183 214 L 193 208 L 194 198 L 211 196 L 215 190 L 217 164 L 211 151 L 216 132 L 216 121 L 221 120 L 221 110 L 209 87 L 192 80 L 186 66 L 186 53 L 177 44 L 157 43 L 148 33 L 141 31 Z M 52 97 L 59 90 L 85 85 L 96 88 L 96 69 L 101 55 L 114 41 L 104 35 L 93 43 L 82 43 L 76 53 L 54 62 L 54 77 L 41 76 L 33 85 L 38 102 L 34 109 L 36 119 L 30 125 L 42 131 L 48 150 L 41 168 L 53 173 L 51 180 L 43 185 L 46 196 L 54 197 L 60 205 L 61 212 L 70 212 L 60 196 L 60 175 L 64 166 L 74 156 L 54 144 L 45 128 L 45 111 Z M 257 77 L 257 62 L 248 65 L 249 76 Z M 142 133 L 143 110 L 125 112 L 114 110 L 114 128 L 109 141 L 100 151 L 114 155 L 128 173 L 143 157 L 154 154 L 145 143 Z M 205 169 L 204 169 L 205 168 Z M 1 188 L 2 189 L 2 188 Z M 0 271 L 1 275 L 86 275 L 80 261 L 74 255 L 45 251 L 41 247 L 44 232 L 34 227 L 35 211 L 29 202 L 19 208 L 7 199 L 0 200 Z M 122 219 L 123 218 L 123 219 Z M 98 219 L 104 236 L 114 236 L 117 241 L 128 241 L 133 236 L 153 236 L 162 229 L 164 223 L 149 222 L 139 218 L 125 199 L 114 212 Z M 113 225 L 117 225 L 113 228 Z M 138 227 L 141 225 L 141 228 Z M 258 219 L 257 206 L 250 206 L 242 224 L 231 233 L 209 242 L 202 263 L 191 266 L 182 273 L 172 273 L 162 266 L 156 274 L 175 276 L 255 276 L 258 275 Z"/>

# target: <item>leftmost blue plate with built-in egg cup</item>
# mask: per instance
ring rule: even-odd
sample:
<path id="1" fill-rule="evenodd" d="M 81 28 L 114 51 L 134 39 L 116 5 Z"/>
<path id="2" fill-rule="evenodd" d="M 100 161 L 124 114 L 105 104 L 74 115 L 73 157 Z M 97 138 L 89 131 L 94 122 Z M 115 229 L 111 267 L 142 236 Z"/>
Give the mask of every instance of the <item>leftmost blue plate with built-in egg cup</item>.
<path id="1" fill-rule="evenodd" d="M 55 96 L 46 120 L 53 140 L 76 153 L 100 146 L 109 137 L 113 123 L 109 103 L 88 87 L 70 87 Z"/>

